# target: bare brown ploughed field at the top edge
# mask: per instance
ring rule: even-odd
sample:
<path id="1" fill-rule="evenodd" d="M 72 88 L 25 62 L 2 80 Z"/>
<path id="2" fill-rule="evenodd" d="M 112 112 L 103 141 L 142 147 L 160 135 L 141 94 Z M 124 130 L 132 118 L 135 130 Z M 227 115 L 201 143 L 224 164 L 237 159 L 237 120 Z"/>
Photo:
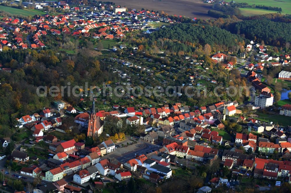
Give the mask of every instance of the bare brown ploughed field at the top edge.
<path id="1" fill-rule="evenodd" d="M 203 3 L 201 0 L 111 0 L 116 5 L 125 6 L 132 9 L 149 9 L 154 11 L 164 11 L 170 15 L 184 15 L 187 17 L 197 17 L 203 19 L 214 19 L 208 16 L 207 11 L 212 4 Z"/>

